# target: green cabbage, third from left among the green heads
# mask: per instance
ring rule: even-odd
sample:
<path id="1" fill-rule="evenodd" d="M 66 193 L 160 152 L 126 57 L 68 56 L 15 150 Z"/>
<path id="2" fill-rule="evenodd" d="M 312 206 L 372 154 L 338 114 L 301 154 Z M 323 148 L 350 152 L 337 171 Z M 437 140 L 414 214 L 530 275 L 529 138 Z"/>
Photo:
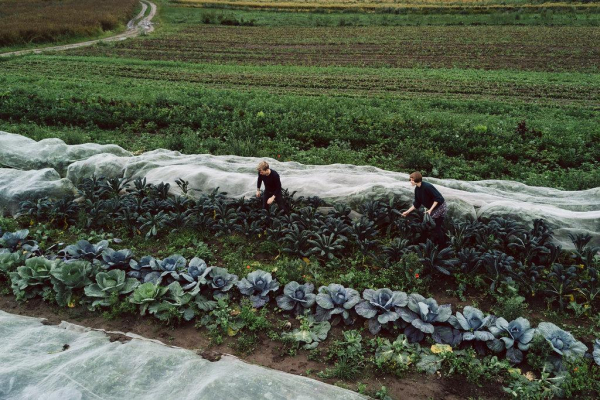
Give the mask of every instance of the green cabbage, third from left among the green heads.
<path id="1" fill-rule="evenodd" d="M 91 308 L 96 306 L 108 307 L 111 305 L 111 296 L 113 294 L 125 295 L 133 292 L 139 286 L 135 278 L 126 278 L 125 271 L 113 269 L 108 272 L 98 272 L 96 274 L 96 283 L 86 286 L 85 295 L 97 298 L 94 300 Z"/>

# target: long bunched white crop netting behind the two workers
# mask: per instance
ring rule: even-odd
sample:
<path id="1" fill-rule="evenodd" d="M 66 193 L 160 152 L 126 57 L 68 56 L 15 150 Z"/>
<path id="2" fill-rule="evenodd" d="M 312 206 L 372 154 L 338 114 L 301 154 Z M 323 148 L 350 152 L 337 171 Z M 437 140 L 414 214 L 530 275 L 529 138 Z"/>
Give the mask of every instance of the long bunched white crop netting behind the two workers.
<path id="1" fill-rule="evenodd" d="M 219 187 L 231 197 L 253 196 L 255 167 L 261 160 L 184 155 L 164 149 L 133 155 L 116 145 L 70 146 L 59 139 L 36 142 L 0 132 L 0 167 L 4 167 L 0 168 L 0 212 L 14 214 L 23 199 L 73 193 L 74 185 L 93 175 L 145 177 L 154 184 L 168 182 L 175 193 L 179 190 L 175 181 L 181 178 L 198 191 Z M 407 173 L 371 166 L 266 160 L 281 175 L 283 187 L 297 196 L 319 196 L 350 205 L 366 198 L 394 195 L 411 201 L 413 197 Z M 53 170 L 56 173 L 50 173 Z M 425 179 L 436 185 L 448 200 L 451 216 L 455 218 L 500 215 L 526 223 L 543 218 L 554 230 L 555 240 L 565 248 L 573 247 L 568 233 L 589 233 L 592 244 L 600 245 L 600 187 L 562 191 L 505 180 Z"/>

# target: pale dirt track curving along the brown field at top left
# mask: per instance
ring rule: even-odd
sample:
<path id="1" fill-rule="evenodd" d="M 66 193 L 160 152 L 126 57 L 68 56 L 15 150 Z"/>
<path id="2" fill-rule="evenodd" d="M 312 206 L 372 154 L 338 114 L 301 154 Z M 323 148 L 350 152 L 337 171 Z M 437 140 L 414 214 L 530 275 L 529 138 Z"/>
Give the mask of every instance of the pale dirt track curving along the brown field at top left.
<path id="1" fill-rule="evenodd" d="M 0 57 L 21 56 L 25 54 L 40 54 L 45 51 L 69 50 L 75 49 L 77 47 L 91 46 L 100 42 L 117 42 L 135 36 L 139 36 L 142 33 L 150 33 L 154 31 L 154 26 L 152 25 L 152 18 L 154 18 L 154 15 L 156 15 L 156 4 L 148 0 L 142 0 L 140 1 L 140 3 L 142 3 L 142 10 L 138 15 L 136 15 L 131 21 L 127 23 L 127 30 L 119 35 L 110 36 L 104 39 L 89 40 L 87 42 L 66 44 L 63 46 L 52 46 L 40 49 L 29 49 L 13 51 L 10 53 L 2 53 L 0 54 Z"/>

